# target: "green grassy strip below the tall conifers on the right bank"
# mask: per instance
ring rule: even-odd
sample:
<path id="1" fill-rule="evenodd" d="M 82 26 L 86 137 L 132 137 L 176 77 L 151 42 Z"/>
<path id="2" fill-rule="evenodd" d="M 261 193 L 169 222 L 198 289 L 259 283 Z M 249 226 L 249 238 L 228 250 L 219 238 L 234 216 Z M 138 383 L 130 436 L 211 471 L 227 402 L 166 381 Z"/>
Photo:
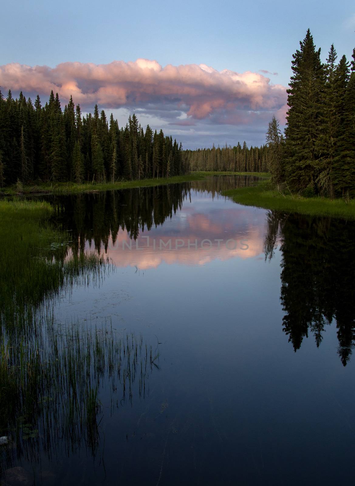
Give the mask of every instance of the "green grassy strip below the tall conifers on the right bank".
<path id="1" fill-rule="evenodd" d="M 245 206 L 275 209 L 311 216 L 332 216 L 341 219 L 355 219 L 355 200 L 330 200 L 325 197 L 302 197 L 284 194 L 275 190 L 269 180 L 259 182 L 252 187 L 223 191 L 223 195 Z"/>

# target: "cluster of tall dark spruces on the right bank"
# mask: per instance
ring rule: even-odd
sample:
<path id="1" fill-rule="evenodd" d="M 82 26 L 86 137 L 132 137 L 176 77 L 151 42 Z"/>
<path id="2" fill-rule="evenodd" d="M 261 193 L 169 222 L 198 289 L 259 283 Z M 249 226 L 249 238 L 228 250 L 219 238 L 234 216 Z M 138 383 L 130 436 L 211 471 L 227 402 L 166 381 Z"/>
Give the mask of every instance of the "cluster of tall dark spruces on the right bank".
<path id="1" fill-rule="evenodd" d="M 270 172 L 274 183 L 306 196 L 355 196 L 355 49 L 353 60 L 332 44 L 321 62 L 308 29 L 293 54 L 287 89 L 285 137 L 269 123 Z"/>

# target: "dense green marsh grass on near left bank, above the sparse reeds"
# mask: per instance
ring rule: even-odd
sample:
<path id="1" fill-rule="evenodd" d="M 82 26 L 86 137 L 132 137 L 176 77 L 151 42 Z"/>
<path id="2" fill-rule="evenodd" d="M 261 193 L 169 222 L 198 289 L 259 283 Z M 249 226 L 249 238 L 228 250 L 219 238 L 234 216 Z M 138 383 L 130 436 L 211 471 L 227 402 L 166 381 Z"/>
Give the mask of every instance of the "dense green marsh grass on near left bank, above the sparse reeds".
<path id="1" fill-rule="evenodd" d="M 72 252 L 69 233 L 50 223 L 53 211 L 46 202 L 0 201 L 0 337 L 3 326 L 25 332 L 44 299 L 113 269 L 94 252 Z"/>

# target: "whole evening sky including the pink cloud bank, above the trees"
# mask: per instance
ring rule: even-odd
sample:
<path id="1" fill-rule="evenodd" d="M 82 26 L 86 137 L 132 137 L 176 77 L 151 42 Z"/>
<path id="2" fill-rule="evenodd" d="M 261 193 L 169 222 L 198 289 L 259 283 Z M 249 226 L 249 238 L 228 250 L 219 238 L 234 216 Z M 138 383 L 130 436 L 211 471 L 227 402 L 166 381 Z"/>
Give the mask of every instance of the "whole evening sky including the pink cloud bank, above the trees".
<path id="1" fill-rule="evenodd" d="M 184 148 L 265 142 L 285 123 L 292 54 L 310 28 L 325 62 L 355 47 L 354 1 L 17 1 L 1 5 L 0 86 L 53 89 Z"/>

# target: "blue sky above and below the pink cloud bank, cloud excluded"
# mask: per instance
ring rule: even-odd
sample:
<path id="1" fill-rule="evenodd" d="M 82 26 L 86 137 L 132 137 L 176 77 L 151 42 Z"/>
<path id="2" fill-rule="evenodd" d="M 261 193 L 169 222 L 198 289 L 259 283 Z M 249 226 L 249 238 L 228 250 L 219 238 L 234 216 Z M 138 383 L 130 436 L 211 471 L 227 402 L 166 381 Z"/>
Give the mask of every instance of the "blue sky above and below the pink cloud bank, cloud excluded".
<path id="1" fill-rule="evenodd" d="M 332 42 L 339 57 L 344 53 L 348 59 L 355 46 L 355 4 L 348 0 L 292 4 L 278 0 L 18 1 L 16 10 L 10 2 L 2 4 L 1 14 L 0 65 L 19 63 L 55 68 L 63 62 L 109 64 L 114 60 L 127 63 L 143 58 L 157 61 L 162 68 L 169 64 L 175 67 L 203 64 L 217 71 L 252 71 L 268 77 L 269 85 L 287 87 L 292 53 L 308 27 L 316 46 L 321 47 L 324 61 Z M 261 69 L 278 74 L 262 73 Z M 181 83 L 183 75 L 179 76 Z M 0 74 L 3 87 L 7 88 L 9 79 L 13 78 Z M 224 78 L 219 79 L 223 84 Z M 24 92 L 32 94 L 34 84 L 27 86 L 24 78 L 21 83 Z M 189 83 L 191 86 L 191 80 Z M 83 90 L 81 85 L 80 89 Z M 46 100 L 49 93 L 40 95 Z M 216 102 L 217 108 L 210 107 L 209 111 L 206 108 L 208 114 L 203 117 L 201 110 L 198 116 L 196 109 L 191 110 L 191 97 L 186 101 L 179 96 L 169 92 L 169 100 L 155 94 L 153 100 L 145 96 L 142 101 L 135 92 L 134 96 L 128 94 L 124 103 L 115 105 L 111 96 L 108 106 L 100 107 L 113 111 L 121 124 L 135 110 L 143 125 L 149 122 L 153 128 L 162 127 L 167 134 L 182 140 L 186 148 L 211 146 L 213 142 L 234 144 L 244 139 L 249 145 L 261 144 L 268 117 L 271 118 L 272 111 L 277 113 L 281 109 L 281 98 L 274 106 L 265 100 L 259 107 L 250 100 L 241 106 L 238 95 L 237 104 L 226 108 L 226 98 L 223 106 Z M 204 93 L 204 104 L 207 96 L 211 96 L 210 91 Z M 265 96 L 269 99 L 270 93 Z M 74 93 L 73 97 L 75 102 Z M 64 104 L 63 94 L 61 99 Z M 100 99 L 105 103 L 104 98 Z M 78 100 L 82 98 L 78 96 Z M 86 104 L 87 110 L 90 103 Z M 248 116 L 233 117 L 234 109 L 244 110 Z M 191 123 L 175 125 L 174 120 Z"/>

